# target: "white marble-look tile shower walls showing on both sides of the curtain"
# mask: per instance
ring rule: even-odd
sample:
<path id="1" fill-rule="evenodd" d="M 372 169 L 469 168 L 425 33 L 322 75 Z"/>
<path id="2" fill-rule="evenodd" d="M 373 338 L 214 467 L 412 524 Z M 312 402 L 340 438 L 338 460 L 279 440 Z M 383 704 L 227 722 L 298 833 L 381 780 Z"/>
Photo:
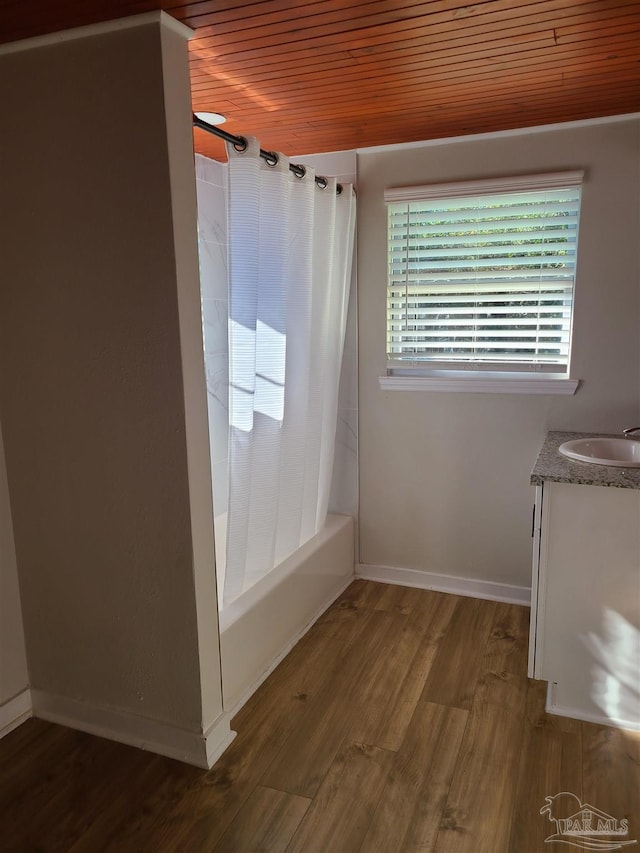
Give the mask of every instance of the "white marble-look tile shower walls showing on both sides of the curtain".
<path id="1" fill-rule="evenodd" d="M 355 184 L 353 151 L 300 157 L 323 175 Z M 226 164 L 196 155 L 198 194 L 206 197 L 208 214 L 199 217 L 200 269 L 204 349 L 209 404 L 209 432 L 215 514 L 227 511 L 229 462 L 229 350 L 227 339 Z M 338 424 L 329 510 L 358 516 L 358 366 L 356 270 L 352 275 L 347 330 L 340 378 Z"/>

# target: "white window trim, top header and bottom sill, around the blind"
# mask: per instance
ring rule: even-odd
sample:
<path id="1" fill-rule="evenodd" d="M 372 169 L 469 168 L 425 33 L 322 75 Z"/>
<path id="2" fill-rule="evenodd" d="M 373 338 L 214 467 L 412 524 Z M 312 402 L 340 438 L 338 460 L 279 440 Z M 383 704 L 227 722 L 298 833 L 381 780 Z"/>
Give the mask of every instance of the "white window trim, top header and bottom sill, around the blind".
<path id="1" fill-rule="evenodd" d="M 466 195 L 484 195 L 499 192 L 519 192 L 555 187 L 580 186 L 584 170 L 546 172 L 508 178 L 488 178 L 473 181 L 427 184 L 409 187 L 391 187 L 384 191 L 385 204 L 393 202 L 422 201 L 432 198 L 456 198 Z M 567 365 L 569 368 L 569 365 Z M 389 365 L 386 376 L 378 377 L 384 391 L 444 391 L 486 394 L 548 394 L 573 395 L 580 385 L 567 373 L 539 373 L 531 365 L 529 371 L 492 371 L 476 367 L 474 370 L 455 368 L 430 368 L 428 363 L 413 366 L 406 373 L 401 364 Z"/>

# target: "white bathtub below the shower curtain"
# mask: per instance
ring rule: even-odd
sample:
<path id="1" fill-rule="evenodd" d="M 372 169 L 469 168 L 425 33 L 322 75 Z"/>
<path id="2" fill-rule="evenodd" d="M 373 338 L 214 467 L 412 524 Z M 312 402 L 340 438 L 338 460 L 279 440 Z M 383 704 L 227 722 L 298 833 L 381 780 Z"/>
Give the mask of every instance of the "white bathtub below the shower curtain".
<path id="1" fill-rule="evenodd" d="M 216 533 L 224 533 L 218 520 Z M 222 536 L 216 552 L 224 553 Z M 217 558 L 216 562 L 222 561 Z M 219 574 L 221 571 L 216 569 Z M 233 715 L 349 585 L 353 519 L 329 515 L 320 533 L 219 614 L 224 710 Z M 220 588 L 220 578 L 218 578 Z"/>

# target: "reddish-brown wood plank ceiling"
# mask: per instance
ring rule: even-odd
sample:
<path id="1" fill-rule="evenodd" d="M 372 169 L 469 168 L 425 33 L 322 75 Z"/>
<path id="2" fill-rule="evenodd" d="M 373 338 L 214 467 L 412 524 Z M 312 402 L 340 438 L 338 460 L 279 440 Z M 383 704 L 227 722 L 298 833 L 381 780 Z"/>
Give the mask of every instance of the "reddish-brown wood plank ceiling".
<path id="1" fill-rule="evenodd" d="M 1 0 L 0 42 L 157 8 L 194 110 L 292 156 L 640 110 L 639 0 Z"/>

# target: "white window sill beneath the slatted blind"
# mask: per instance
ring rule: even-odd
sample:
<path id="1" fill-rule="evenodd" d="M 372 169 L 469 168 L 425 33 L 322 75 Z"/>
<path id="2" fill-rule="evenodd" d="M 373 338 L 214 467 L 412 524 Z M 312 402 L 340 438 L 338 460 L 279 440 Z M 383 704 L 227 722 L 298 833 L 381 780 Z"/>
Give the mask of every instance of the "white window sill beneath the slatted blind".
<path id="1" fill-rule="evenodd" d="M 579 379 L 550 374 L 433 371 L 415 376 L 380 376 L 383 391 L 448 391 L 473 394 L 575 394 Z"/>

